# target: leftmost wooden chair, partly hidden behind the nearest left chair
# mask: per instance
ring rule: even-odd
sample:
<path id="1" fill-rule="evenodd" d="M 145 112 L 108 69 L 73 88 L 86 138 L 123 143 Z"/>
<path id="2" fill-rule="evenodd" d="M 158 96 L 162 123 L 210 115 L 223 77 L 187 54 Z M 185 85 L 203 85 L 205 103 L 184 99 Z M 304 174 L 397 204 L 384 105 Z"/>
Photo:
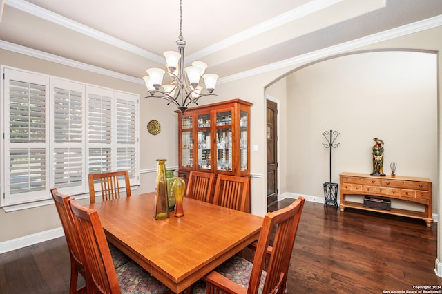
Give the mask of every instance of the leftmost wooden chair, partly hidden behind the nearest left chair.
<path id="1" fill-rule="evenodd" d="M 66 242 L 68 243 L 69 255 L 70 255 L 70 288 L 69 293 L 84 293 L 86 287 L 77 290 L 78 273 L 86 278 L 84 273 L 84 265 L 81 261 L 80 245 L 75 238 L 75 231 L 73 227 L 73 218 L 68 211 L 69 196 L 63 195 L 57 191 L 57 188 L 50 189 L 52 198 L 57 208 L 58 216 L 61 220 L 61 227 L 63 227 Z"/>

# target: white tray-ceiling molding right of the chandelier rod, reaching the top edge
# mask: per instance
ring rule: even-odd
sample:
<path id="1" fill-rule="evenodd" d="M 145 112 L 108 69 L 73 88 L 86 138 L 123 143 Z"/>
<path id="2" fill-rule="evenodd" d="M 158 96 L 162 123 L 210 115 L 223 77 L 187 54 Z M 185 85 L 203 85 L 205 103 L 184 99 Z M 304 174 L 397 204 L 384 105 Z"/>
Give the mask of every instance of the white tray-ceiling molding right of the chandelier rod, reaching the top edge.
<path id="1" fill-rule="evenodd" d="M 296 19 L 300 19 L 309 14 L 313 14 L 319 10 L 323 10 L 329 6 L 333 6 L 336 3 L 342 2 L 343 0 L 314 0 L 304 5 L 295 8 L 293 10 L 289 10 L 283 14 L 278 15 L 277 17 L 273 17 L 273 19 L 269 19 L 263 23 L 253 26 L 247 30 L 239 32 L 238 34 L 234 34 L 233 36 L 229 36 L 229 38 L 224 39 L 218 43 L 214 43 L 202 50 L 199 50 L 186 58 L 189 61 L 195 61 L 197 59 L 202 59 L 204 56 L 213 54 L 222 49 L 228 48 L 232 45 L 240 43 L 244 40 L 251 39 L 253 36 L 258 36 L 258 34 L 262 34 L 263 32 L 267 32 L 269 30 L 273 30 L 274 28 L 278 28 L 281 25 L 285 25 L 285 23 L 289 23 L 291 21 L 295 21 Z"/>

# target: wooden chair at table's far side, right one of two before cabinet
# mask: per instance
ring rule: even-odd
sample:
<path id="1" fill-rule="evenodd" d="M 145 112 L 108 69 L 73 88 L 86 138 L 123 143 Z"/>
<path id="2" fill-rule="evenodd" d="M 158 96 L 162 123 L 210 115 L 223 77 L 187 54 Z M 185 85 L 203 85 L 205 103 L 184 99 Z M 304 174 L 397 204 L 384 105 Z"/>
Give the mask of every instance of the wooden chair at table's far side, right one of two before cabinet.
<path id="1" fill-rule="evenodd" d="M 218 175 L 213 203 L 222 207 L 247 211 L 249 182 L 247 177 Z"/>

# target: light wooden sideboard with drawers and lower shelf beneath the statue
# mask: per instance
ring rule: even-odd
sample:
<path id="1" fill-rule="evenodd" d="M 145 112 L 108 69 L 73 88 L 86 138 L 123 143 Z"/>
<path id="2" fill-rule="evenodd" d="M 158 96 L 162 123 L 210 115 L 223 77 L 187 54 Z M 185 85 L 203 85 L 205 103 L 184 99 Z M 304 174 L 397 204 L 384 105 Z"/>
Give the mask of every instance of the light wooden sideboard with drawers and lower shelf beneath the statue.
<path id="1" fill-rule="evenodd" d="M 347 201 L 347 195 L 376 196 L 381 199 L 396 199 L 422 204 L 425 212 L 391 208 L 391 210 L 366 207 L 359 202 Z M 432 226 L 432 180 L 405 176 L 371 176 L 369 174 L 340 174 L 340 211 L 345 207 L 377 211 L 425 220 Z"/>

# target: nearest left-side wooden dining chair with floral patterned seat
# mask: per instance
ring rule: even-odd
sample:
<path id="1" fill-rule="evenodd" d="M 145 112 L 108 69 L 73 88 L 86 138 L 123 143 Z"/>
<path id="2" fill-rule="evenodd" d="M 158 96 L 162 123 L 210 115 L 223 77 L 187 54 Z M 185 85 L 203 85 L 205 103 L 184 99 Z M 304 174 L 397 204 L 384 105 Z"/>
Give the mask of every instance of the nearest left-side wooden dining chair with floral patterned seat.
<path id="1" fill-rule="evenodd" d="M 85 260 L 88 293 L 173 293 L 132 260 L 115 269 L 98 212 L 72 198 L 68 204 Z"/>

